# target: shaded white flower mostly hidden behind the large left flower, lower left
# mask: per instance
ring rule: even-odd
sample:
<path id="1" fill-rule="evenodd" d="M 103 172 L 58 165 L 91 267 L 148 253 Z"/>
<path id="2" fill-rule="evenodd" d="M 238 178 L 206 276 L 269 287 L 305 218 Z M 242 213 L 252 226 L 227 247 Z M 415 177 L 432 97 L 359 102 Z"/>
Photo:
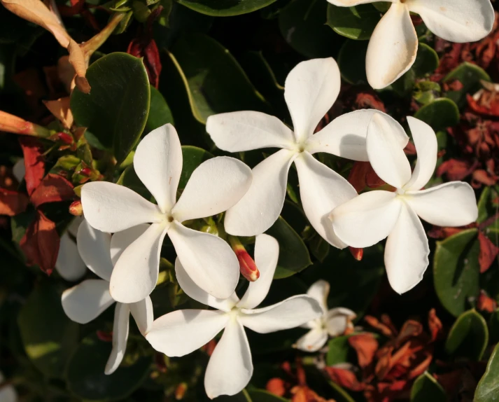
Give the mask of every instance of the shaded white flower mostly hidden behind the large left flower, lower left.
<path id="1" fill-rule="evenodd" d="M 62 293 L 62 308 L 66 315 L 79 324 L 87 324 L 99 316 L 115 300 L 109 293 L 109 280 L 113 263 L 134 239 L 146 232 L 147 225 L 139 225 L 111 235 L 92 228 L 87 221 L 78 229 L 77 244 L 81 258 L 95 275 L 102 279 L 87 279 Z M 120 247 L 116 247 L 119 244 Z M 146 333 L 153 323 L 153 303 L 149 296 L 137 303 L 116 303 L 113 324 L 113 349 L 104 373 L 112 374 L 125 356 L 129 314 L 135 319 L 139 331 Z"/>

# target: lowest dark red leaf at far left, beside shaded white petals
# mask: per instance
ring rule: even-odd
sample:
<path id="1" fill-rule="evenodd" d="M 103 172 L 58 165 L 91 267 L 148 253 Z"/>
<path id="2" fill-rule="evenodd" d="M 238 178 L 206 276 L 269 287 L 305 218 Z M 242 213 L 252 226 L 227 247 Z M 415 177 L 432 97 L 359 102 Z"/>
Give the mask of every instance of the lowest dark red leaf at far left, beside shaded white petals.
<path id="1" fill-rule="evenodd" d="M 36 219 L 28 226 L 20 247 L 27 258 L 28 265 L 38 265 L 43 272 L 50 275 L 59 253 L 59 235 L 55 223 L 43 212 L 36 211 Z"/>

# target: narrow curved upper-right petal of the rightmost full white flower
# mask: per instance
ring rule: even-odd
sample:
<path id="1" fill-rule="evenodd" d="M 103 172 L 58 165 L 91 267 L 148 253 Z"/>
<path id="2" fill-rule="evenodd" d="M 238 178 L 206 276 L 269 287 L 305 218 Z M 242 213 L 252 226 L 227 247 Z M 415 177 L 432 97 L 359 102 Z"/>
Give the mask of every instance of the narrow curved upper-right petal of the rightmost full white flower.
<path id="1" fill-rule="evenodd" d="M 412 139 L 418 153 L 418 160 L 411 179 L 404 186 L 406 190 L 421 190 L 430 181 L 437 166 L 438 144 L 433 128 L 414 117 L 407 117 Z"/>

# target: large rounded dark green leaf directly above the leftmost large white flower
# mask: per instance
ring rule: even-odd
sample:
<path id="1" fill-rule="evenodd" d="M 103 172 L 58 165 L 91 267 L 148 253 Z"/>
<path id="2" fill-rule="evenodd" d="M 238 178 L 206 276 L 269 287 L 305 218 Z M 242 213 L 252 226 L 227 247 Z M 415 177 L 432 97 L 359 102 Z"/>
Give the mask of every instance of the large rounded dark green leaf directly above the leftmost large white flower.
<path id="1" fill-rule="evenodd" d="M 150 85 L 141 59 L 127 53 L 101 57 L 86 75 L 90 94 L 74 90 L 71 111 L 76 123 L 113 148 L 118 165 L 139 140 L 148 118 Z"/>

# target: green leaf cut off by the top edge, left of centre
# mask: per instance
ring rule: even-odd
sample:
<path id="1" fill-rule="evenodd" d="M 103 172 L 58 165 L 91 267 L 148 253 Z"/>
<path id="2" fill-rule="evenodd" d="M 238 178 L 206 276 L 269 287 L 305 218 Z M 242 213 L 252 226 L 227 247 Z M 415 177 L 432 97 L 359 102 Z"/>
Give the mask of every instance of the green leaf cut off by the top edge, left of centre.
<path id="1" fill-rule="evenodd" d="M 178 0 L 178 3 L 198 13 L 213 17 L 230 17 L 252 13 L 276 0 Z"/>

